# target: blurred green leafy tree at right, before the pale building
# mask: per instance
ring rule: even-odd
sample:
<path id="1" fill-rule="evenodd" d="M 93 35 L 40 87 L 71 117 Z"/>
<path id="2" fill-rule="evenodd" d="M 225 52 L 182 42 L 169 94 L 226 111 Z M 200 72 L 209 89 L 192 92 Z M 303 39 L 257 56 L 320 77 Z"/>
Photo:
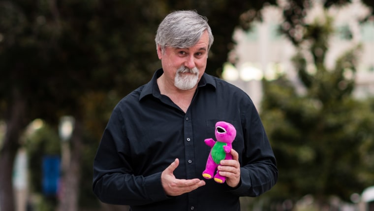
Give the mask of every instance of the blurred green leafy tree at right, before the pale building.
<path id="1" fill-rule="evenodd" d="M 312 194 L 322 207 L 331 196 L 350 201 L 374 181 L 367 160 L 373 154 L 374 113 L 352 97 L 360 45 L 327 69 L 333 20 L 319 18 L 325 22 L 303 24 L 302 37 L 294 42 L 300 86 L 285 75 L 264 81 L 261 116 L 280 170 L 272 197 L 299 200 Z"/>

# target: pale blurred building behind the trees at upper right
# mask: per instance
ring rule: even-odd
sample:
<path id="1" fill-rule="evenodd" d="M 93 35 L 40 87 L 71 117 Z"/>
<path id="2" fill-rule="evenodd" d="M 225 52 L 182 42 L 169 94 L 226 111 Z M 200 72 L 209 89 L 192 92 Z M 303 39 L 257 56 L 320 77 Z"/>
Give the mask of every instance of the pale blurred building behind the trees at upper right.
<path id="1" fill-rule="evenodd" d="M 226 64 L 223 67 L 222 77 L 245 90 L 258 109 L 262 96 L 262 77 L 271 80 L 277 72 L 285 72 L 296 86 L 299 84 L 297 72 L 291 63 L 291 58 L 296 53 L 295 47 L 278 32 L 282 24 L 281 12 L 279 8 L 266 7 L 263 9 L 262 22 L 252 24 L 249 32 L 238 29 L 234 34 L 237 45 L 229 56 L 230 62 L 235 61 L 236 65 L 234 67 Z M 308 12 L 306 21 L 312 22 L 315 18 L 323 21 L 323 12 L 321 5 L 314 5 Z M 359 56 L 359 66 L 356 67 L 356 87 L 353 95 L 360 99 L 373 95 L 374 20 L 372 18 L 365 23 L 359 23 L 359 20 L 369 16 L 369 8 L 361 1 L 353 0 L 351 4 L 341 8 L 330 8 L 328 14 L 334 17 L 335 34 L 326 55 L 326 67 L 333 69 L 336 59 L 343 52 L 361 43 L 363 48 Z"/>

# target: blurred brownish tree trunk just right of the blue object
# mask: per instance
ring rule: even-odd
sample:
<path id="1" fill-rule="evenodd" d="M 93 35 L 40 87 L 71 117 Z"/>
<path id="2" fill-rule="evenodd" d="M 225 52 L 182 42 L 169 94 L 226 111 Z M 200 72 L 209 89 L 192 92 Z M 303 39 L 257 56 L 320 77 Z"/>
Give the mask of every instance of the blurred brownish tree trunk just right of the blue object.
<path id="1" fill-rule="evenodd" d="M 81 177 L 82 161 L 82 122 L 75 120 L 74 131 L 70 140 L 71 157 L 67 169 L 62 170 L 62 193 L 58 211 L 78 211 L 79 184 Z"/>

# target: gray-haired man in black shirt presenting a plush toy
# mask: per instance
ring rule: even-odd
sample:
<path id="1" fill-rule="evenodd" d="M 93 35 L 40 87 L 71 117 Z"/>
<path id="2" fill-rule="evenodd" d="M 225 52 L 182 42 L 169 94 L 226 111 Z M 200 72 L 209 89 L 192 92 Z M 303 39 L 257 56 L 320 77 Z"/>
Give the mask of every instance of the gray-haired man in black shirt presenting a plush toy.
<path id="1" fill-rule="evenodd" d="M 194 11 L 165 17 L 156 34 L 162 69 L 114 108 L 94 159 L 93 189 L 132 211 L 239 211 L 277 181 L 276 160 L 249 96 L 204 73 L 213 35 Z M 202 176 L 205 139 L 226 121 L 237 131 L 219 184 Z"/>

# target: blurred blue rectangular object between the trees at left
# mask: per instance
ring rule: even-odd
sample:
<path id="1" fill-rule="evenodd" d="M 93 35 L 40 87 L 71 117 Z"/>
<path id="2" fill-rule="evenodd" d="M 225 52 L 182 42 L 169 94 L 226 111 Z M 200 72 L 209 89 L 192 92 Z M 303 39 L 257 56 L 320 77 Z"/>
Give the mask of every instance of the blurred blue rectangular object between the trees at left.
<path id="1" fill-rule="evenodd" d="M 46 155 L 43 157 L 43 193 L 45 195 L 56 195 L 60 180 L 60 163 L 59 156 Z"/>

